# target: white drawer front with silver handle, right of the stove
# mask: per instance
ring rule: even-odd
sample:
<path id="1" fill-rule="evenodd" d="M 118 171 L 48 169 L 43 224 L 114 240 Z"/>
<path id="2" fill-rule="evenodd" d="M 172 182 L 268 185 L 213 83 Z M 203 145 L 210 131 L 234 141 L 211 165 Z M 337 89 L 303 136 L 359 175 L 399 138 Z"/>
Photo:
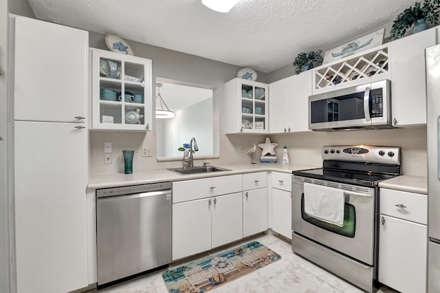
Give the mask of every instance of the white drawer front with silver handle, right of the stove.
<path id="1" fill-rule="evenodd" d="M 427 224 L 428 197 L 418 193 L 380 188 L 380 213 Z"/>

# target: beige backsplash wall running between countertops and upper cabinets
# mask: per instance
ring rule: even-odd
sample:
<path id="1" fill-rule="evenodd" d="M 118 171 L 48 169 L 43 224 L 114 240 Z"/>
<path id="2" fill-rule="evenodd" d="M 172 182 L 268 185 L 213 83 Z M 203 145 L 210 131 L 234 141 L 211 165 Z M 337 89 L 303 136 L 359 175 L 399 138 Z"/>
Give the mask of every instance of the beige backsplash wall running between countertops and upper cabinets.
<path id="1" fill-rule="evenodd" d="M 340 132 L 305 132 L 282 133 L 276 135 L 230 134 L 219 135 L 220 158 L 197 158 L 195 153 L 195 166 L 203 162 L 211 164 L 236 164 L 250 163 L 250 156 L 239 152 L 239 146 L 245 146 L 247 151 L 251 144 L 265 142 L 269 137 L 271 142 L 278 143 L 276 155 L 281 162 L 283 146 L 287 146 L 291 164 L 306 164 L 322 166 L 321 149 L 325 145 L 341 144 L 370 144 L 383 146 L 401 146 L 402 173 L 404 175 L 426 176 L 426 127 L 410 129 L 383 129 L 366 131 L 340 131 Z M 104 164 L 104 142 L 112 143 L 112 164 Z M 153 151 L 152 157 L 142 157 L 142 146 Z M 199 149 L 203 148 L 199 144 Z M 181 166 L 181 161 L 157 162 L 155 132 L 90 132 L 90 173 L 123 173 L 122 150 L 133 149 L 133 172 L 155 169 L 166 169 Z M 258 162 L 261 149 L 257 147 L 254 159 Z"/>

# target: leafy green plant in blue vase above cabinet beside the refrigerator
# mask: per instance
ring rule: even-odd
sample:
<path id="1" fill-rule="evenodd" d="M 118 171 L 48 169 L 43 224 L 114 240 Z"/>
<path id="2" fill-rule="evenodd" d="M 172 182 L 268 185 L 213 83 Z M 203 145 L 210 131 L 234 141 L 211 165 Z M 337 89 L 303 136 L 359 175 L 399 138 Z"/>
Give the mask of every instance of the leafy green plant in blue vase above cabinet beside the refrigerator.
<path id="1" fill-rule="evenodd" d="M 423 6 L 420 2 L 415 2 L 414 6 L 406 8 L 397 16 L 390 30 L 390 39 L 395 40 L 404 36 L 411 25 L 414 25 L 413 34 L 429 28 L 427 23 L 438 25 L 439 9 L 440 0 L 424 0 Z"/>

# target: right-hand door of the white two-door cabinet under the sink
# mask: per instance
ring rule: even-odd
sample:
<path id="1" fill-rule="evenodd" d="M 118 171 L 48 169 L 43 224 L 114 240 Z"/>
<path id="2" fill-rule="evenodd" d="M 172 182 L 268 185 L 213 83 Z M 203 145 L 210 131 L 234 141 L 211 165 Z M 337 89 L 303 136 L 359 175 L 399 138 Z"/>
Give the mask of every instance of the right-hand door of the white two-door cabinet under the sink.
<path id="1" fill-rule="evenodd" d="M 243 238 L 241 193 L 212 197 L 211 210 L 212 248 Z"/>

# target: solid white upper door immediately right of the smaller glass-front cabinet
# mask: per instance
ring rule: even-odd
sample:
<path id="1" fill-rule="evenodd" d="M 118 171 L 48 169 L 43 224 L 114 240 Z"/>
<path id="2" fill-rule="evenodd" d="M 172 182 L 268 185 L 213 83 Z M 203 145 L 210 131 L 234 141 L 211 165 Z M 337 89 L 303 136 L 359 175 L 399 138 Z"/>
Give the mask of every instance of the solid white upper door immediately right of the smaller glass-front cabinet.
<path id="1" fill-rule="evenodd" d="M 269 127 L 270 133 L 289 131 L 289 78 L 269 85 Z"/>

